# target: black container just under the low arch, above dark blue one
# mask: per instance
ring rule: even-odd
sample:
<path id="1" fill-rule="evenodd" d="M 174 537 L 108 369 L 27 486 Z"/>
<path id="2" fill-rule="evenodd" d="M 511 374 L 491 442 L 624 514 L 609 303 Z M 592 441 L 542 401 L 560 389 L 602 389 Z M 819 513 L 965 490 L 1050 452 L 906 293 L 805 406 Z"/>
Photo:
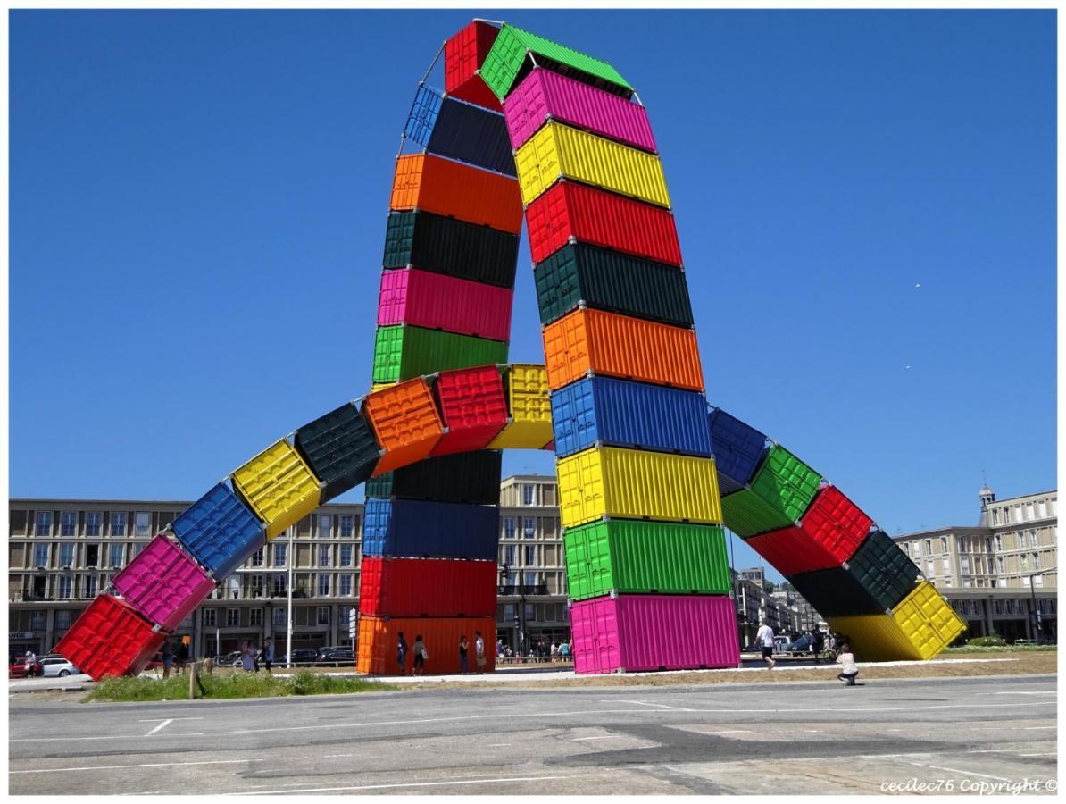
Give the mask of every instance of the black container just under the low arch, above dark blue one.
<path id="1" fill-rule="evenodd" d="M 496 505 L 502 468 L 499 450 L 431 457 L 367 481 L 367 497 Z"/>

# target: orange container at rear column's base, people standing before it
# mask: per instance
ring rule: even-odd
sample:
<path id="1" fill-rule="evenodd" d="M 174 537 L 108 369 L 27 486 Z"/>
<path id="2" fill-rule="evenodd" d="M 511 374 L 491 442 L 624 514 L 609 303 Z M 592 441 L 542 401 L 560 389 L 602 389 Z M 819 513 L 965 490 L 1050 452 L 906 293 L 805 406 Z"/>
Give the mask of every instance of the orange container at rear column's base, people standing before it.
<path id="1" fill-rule="evenodd" d="M 470 642 L 467 650 L 470 672 L 478 671 L 474 654 L 474 631 L 481 631 L 485 640 L 485 668 L 496 669 L 496 618 L 495 617 L 382 617 L 359 616 L 359 633 L 356 647 L 355 669 L 360 673 L 375 676 L 398 676 L 397 642 L 400 631 L 407 642 L 405 671 L 409 674 L 414 662 L 415 638 L 422 636 L 425 652 L 424 672 L 427 676 L 459 672 L 459 638 L 466 636 Z"/>

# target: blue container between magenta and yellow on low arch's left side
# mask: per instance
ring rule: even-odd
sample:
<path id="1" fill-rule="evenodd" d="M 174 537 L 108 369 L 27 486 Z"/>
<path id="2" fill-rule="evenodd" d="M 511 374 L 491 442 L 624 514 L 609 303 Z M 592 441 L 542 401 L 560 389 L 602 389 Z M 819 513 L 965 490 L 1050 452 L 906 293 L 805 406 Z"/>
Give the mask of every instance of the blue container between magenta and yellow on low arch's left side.
<path id="1" fill-rule="evenodd" d="M 171 527 L 215 578 L 225 578 L 266 544 L 263 524 L 225 483 L 178 514 Z"/>

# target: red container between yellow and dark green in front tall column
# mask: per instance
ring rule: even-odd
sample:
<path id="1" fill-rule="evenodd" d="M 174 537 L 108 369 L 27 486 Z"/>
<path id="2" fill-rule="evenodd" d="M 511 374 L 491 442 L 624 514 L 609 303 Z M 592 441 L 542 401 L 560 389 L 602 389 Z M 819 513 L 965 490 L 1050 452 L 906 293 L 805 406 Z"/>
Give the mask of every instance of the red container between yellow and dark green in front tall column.
<path id="1" fill-rule="evenodd" d="M 572 181 L 559 181 L 542 193 L 526 209 L 526 224 L 534 262 L 543 262 L 574 238 L 681 264 L 677 227 L 667 210 Z"/>

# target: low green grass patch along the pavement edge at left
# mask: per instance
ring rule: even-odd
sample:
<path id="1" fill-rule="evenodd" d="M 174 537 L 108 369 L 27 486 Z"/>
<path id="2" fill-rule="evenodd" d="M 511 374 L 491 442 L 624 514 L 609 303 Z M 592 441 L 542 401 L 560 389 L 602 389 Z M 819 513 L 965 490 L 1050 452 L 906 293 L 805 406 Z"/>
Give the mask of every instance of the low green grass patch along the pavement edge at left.
<path id="1" fill-rule="evenodd" d="M 382 692 L 393 685 L 368 681 L 351 676 L 321 675 L 302 670 L 287 678 L 266 673 L 215 671 L 200 674 L 207 700 L 284 697 L 288 695 L 326 695 L 346 692 Z M 83 701 L 185 701 L 189 697 L 189 676 L 175 675 L 167 679 L 139 676 L 104 678 Z"/>

